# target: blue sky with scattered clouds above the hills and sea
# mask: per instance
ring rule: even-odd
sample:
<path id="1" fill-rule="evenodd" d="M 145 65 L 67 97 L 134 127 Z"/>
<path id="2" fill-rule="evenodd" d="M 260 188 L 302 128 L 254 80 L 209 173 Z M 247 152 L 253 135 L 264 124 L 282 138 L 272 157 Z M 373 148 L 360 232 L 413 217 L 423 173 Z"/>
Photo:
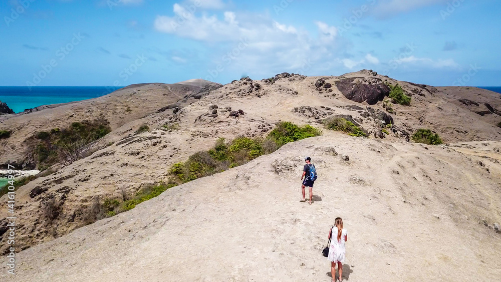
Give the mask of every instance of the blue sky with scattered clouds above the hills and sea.
<path id="1" fill-rule="evenodd" d="M 5 0 L 3 86 L 126 86 L 373 69 L 501 86 L 494 0 Z"/>

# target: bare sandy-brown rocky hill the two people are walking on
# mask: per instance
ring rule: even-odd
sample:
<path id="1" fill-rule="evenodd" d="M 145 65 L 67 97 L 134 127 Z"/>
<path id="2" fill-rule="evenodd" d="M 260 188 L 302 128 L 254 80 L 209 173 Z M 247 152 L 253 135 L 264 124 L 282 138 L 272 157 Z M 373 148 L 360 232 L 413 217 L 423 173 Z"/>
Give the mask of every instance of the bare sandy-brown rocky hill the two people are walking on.
<path id="1" fill-rule="evenodd" d="M 386 102 L 390 86 L 396 84 L 411 97 L 410 105 Z M 350 271 L 355 280 L 371 281 L 367 273 L 386 277 L 383 280 L 393 280 L 391 275 L 399 280 L 470 277 L 466 262 L 455 260 L 459 251 L 474 253 L 475 267 L 485 278 L 480 280 L 489 280 L 501 263 L 491 248 L 500 244 L 499 109 L 499 94 L 487 90 L 435 88 L 362 70 L 322 77 L 282 73 L 223 86 L 201 80 L 135 85 L 15 115 L 0 121 L 0 130 L 12 132 L 0 139 L 0 163 L 19 167 L 36 165 L 30 142 L 40 131 L 95 117 L 107 120 L 111 129 L 88 157 L 55 167 L 55 173 L 17 191 L 21 204 L 16 210 L 16 243 L 29 248 L 19 254 L 26 263 L 20 272 L 27 281 L 48 279 L 44 275 L 79 280 L 98 275 L 90 269 L 101 265 L 101 276 L 91 280 L 107 280 L 111 276 L 106 275 L 118 272 L 118 280 L 162 280 L 162 273 L 183 277 L 178 280 L 197 279 L 200 272 L 184 263 L 194 259 L 213 280 L 299 280 L 305 275 L 325 280 L 329 269 L 319 256 L 324 229 L 342 215 L 353 230 L 350 259 L 356 262 Z M 219 138 L 264 137 L 281 121 L 323 128 L 322 121 L 331 117 L 353 122 L 368 138 L 324 128 L 324 137 L 288 144 L 272 155 L 171 188 L 131 211 L 85 226 L 94 203 L 169 181 L 172 164 L 211 148 Z M 421 128 L 438 133 L 446 145 L 410 143 Z M 325 181 L 315 189 L 311 209 L 300 205 L 300 183 L 294 181 L 306 155 L 317 158 Z M 61 207 L 48 218 L 43 207 L 53 199 Z M 7 216 L 0 210 L 0 236 L 5 236 Z M 196 240 L 193 232 L 204 234 L 203 239 Z M 409 234 L 416 237 L 406 243 Z M 470 236 L 485 243 L 466 243 Z M 300 243 L 305 241 L 311 244 Z M 206 244 L 208 252 L 186 251 L 200 249 L 198 244 Z M 6 247 L 2 239 L 0 250 L 5 253 Z M 96 259 L 86 258 L 89 248 Z M 124 249 L 129 256 L 123 255 Z M 231 255 L 242 252 L 247 253 L 245 260 Z M 106 261 L 115 264 L 104 262 L 106 253 L 111 254 Z M 158 264 L 138 261 L 140 253 L 148 253 Z M 261 253 L 269 253 L 266 260 Z M 411 265 L 422 263 L 423 255 L 436 268 L 409 271 L 417 269 Z M 51 264 L 60 258 L 63 264 Z M 289 269 L 284 261 L 294 263 Z M 162 267 L 148 268 L 152 265 Z M 148 270 L 136 271 L 141 267 Z M 440 270 L 444 267 L 445 272 Z M 381 276 L 381 270 L 387 276 Z M 140 278 L 140 273 L 146 276 Z"/>

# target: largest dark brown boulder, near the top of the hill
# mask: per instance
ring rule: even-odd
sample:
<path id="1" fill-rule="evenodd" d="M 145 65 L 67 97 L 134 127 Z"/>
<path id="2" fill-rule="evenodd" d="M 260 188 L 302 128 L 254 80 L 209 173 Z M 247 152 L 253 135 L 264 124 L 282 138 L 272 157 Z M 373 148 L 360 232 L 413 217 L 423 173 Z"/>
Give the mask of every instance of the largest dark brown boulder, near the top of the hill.
<path id="1" fill-rule="evenodd" d="M 345 78 L 336 82 L 336 87 L 346 98 L 374 105 L 390 94 L 390 88 L 379 78 Z"/>

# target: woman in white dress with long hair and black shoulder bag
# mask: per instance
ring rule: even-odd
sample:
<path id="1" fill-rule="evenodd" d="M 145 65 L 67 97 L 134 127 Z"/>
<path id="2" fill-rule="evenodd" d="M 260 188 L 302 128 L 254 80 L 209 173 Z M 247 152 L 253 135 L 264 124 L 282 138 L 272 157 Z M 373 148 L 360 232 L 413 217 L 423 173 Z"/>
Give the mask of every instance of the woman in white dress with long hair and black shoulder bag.
<path id="1" fill-rule="evenodd" d="M 345 242 L 348 241 L 348 232 L 343 228 L 343 219 L 341 219 L 341 217 L 336 218 L 334 224 L 335 225 L 329 232 L 331 245 L 329 246 L 329 256 L 327 258 L 331 261 L 332 280 L 335 281 L 336 279 L 337 263 L 339 268 L 339 280 L 343 281 L 343 262 L 346 254 Z M 332 235 L 334 236 L 331 238 Z"/>

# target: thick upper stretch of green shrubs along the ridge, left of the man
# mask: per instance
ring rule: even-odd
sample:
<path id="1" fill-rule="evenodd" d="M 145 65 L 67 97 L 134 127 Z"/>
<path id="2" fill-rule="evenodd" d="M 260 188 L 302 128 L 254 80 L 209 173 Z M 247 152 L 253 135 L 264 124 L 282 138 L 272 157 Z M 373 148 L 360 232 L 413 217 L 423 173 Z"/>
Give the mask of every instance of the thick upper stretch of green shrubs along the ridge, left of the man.
<path id="1" fill-rule="evenodd" d="M 320 135 L 322 131 L 310 125 L 301 127 L 281 122 L 266 138 L 237 137 L 228 143 L 220 138 L 212 149 L 197 152 L 187 161 L 172 165 L 170 173 L 176 183 L 186 183 L 273 153 L 289 142 Z"/>

